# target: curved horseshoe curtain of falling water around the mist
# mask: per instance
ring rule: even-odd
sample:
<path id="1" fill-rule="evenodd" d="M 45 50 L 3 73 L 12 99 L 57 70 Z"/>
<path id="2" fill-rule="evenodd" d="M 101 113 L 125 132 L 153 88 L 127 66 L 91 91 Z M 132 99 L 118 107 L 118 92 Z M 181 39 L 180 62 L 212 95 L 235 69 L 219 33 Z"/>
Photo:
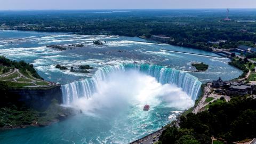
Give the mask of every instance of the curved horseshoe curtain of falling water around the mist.
<path id="1" fill-rule="evenodd" d="M 100 89 L 101 82 L 108 78 L 108 74 L 119 70 L 126 71 L 129 69 L 139 70 L 142 73 L 153 76 L 161 84 L 169 83 L 177 85 L 193 100 L 197 99 L 201 89 L 202 83 L 198 81 L 198 78 L 185 71 L 157 65 L 124 64 L 105 66 L 99 68 L 91 78 L 61 85 L 63 103 L 69 105 L 71 102 L 76 101 L 81 97 L 90 98 L 94 92 L 97 92 Z"/>

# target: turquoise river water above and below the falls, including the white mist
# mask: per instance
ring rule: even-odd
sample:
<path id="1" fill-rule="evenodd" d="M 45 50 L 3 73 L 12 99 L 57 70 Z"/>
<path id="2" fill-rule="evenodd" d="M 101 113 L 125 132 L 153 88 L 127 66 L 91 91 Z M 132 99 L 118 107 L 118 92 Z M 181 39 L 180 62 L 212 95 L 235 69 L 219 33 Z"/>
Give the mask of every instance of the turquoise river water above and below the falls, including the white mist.
<path id="1" fill-rule="evenodd" d="M 107 43 L 100 46 L 92 44 L 97 39 Z M 46 80 L 66 85 L 93 77 L 95 71 L 102 67 L 117 67 L 134 62 L 137 65 L 158 65 L 187 71 L 202 83 L 219 76 L 229 80 L 242 74 L 241 70 L 228 65 L 230 60 L 227 58 L 173 53 L 161 49 L 217 56 L 211 52 L 144 42 L 145 39 L 137 37 L 9 30 L 0 31 L 0 54 L 12 60 L 33 63 Z M 67 51 L 46 47 L 77 43 L 82 43 L 85 47 Z M 195 70 L 191 67 L 191 62 L 195 61 L 207 63 L 209 69 L 200 73 L 190 72 Z M 68 68 L 90 65 L 96 69 L 90 74 L 72 73 L 56 69 L 55 65 L 58 63 Z M 159 77 L 163 73 L 161 69 L 158 70 L 159 73 L 156 74 Z M 170 78 L 171 81 L 174 77 Z M 196 81 L 197 79 L 193 80 Z M 90 97 L 79 98 L 70 103 L 69 106 L 82 109 L 83 114 L 46 127 L 0 131 L 0 143 L 128 143 L 158 130 L 173 121 L 182 110 L 193 106 L 195 98 L 191 97 L 193 94 L 189 94 L 190 88 L 185 90 L 182 87 L 190 87 L 190 82 L 185 81 L 181 85 L 162 83 L 157 76 L 134 68 L 115 70 L 109 73 L 105 81 L 99 82 L 100 89 Z M 150 110 L 142 111 L 146 103 L 150 105 Z"/>

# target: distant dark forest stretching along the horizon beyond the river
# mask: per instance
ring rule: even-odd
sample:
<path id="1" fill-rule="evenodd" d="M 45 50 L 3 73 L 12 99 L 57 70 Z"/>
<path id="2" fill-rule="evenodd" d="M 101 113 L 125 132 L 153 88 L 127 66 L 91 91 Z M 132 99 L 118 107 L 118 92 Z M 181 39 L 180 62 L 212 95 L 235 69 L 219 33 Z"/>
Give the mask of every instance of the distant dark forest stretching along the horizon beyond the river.
<path id="1" fill-rule="evenodd" d="M 226 10 L 136 10 L 120 13 L 103 11 L 53 11 L 0 13 L 0 24 L 18 30 L 59 31 L 82 35 L 111 34 L 122 36 L 165 35 L 172 45 L 211 51 L 239 44 L 255 46 L 255 10 L 230 10 L 231 21 L 223 21 Z M 25 25 L 21 25 L 25 23 Z M 30 25 L 26 25 L 26 23 Z M 31 25 L 32 24 L 32 25 Z M 33 25 L 34 24 L 34 25 Z M 212 42 L 221 41 L 219 44 Z M 239 43 L 238 43 L 239 42 Z"/>

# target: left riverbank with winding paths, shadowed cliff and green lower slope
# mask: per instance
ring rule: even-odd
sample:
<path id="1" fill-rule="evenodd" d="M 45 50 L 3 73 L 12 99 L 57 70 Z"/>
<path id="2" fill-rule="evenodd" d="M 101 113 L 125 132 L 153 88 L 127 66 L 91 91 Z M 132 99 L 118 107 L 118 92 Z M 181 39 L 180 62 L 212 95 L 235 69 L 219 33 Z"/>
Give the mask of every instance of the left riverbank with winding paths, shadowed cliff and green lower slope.
<path id="1" fill-rule="evenodd" d="M 46 126 L 74 115 L 60 106 L 59 84 L 44 81 L 33 65 L 0 57 L 0 129 Z"/>

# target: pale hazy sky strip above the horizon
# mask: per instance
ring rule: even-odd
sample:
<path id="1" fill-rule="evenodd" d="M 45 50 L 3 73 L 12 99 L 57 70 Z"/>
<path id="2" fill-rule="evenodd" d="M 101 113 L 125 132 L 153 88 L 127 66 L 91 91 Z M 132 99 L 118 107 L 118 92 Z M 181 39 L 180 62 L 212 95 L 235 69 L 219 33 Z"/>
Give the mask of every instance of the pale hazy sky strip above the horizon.
<path id="1" fill-rule="evenodd" d="M 0 0 L 0 10 L 256 8 L 256 0 Z"/>

